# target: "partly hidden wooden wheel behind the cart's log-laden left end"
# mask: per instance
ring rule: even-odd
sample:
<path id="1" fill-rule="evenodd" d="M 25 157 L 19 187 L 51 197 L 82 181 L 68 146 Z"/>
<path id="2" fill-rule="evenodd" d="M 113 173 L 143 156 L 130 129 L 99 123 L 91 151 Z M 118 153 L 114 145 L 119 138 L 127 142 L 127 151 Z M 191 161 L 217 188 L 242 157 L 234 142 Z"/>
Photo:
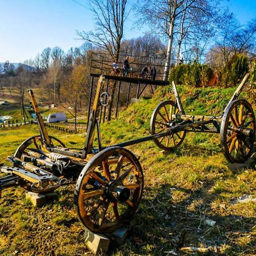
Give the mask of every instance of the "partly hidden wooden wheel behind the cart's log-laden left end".
<path id="1" fill-rule="evenodd" d="M 59 139 L 49 136 L 49 139 L 52 143 L 53 146 L 58 147 L 66 147 L 65 144 L 63 142 L 61 142 Z M 16 150 L 14 156 L 16 158 L 20 158 L 22 156 L 22 154 L 24 154 L 26 152 L 27 148 L 42 148 L 42 139 L 40 135 L 36 135 L 36 136 L 32 136 L 28 139 L 26 139 L 26 141 L 23 141 L 20 146 L 18 147 L 18 149 Z"/>

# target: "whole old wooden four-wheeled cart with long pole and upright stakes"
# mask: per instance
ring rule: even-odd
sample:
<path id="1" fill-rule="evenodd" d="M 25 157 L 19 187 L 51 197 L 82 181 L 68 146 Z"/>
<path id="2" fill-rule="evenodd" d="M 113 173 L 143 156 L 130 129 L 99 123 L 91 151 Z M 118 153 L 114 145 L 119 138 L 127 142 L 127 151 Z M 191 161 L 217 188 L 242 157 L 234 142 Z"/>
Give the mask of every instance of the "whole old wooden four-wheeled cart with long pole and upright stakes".
<path id="1" fill-rule="evenodd" d="M 79 150 L 67 148 L 59 139 L 48 135 L 30 90 L 40 135 L 20 144 L 9 158 L 13 167 L 1 167 L 7 175 L 0 178 L 0 191 L 20 186 L 28 191 L 48 193 L 76 183 L 74 204 L 82 224 L 93 232 L 113 232 L 133 217 L 143 192 L 141 164 L 126 146 L 154 140 L 163 150 L 172 150 L 183 142 L 187 132 L 220 133 L 222 150 L 230 162 L 240 163 L 249 158 L 255 139 L 255 117 L 249 102 L 238 98 L 248 78 L 249 74 L 220 117 L 186 115 L 172 82 L 175 101 L 164 101 L 156 107 L 151 116 L 150 136 L 102 147 L 98 115 L 100 106 L 108 105 L 109 94 L 101 93 L 105 81 L 100 76 L 85 144 Z M 98 148 L 95 149 L 96 134 Z"/>

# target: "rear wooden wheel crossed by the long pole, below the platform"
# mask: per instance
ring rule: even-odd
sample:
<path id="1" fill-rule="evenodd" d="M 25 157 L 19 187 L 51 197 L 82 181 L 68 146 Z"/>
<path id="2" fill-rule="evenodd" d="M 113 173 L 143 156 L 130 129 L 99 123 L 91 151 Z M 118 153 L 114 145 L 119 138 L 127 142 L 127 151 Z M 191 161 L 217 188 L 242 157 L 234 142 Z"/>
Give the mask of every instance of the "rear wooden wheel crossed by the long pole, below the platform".
<path id="1" fill-rule="evenodd" d="M 150 131 L 151 134 L 159 134 L 166 131 L 170 127 L 177 125 L 177 118 L 173 115 L 179 114 L 179 109 L 177 108 L 174 101 L 164 101 L 161 102 L 154 110 L 150 121 Z M 158 147 L 163 150 L 172 150 L 174 147 L 180 146 L 186 135 L 186 131 L 179 131 L 177 133 L 172 133 L 166 137 L 154 139 L 154 142 Z"/>

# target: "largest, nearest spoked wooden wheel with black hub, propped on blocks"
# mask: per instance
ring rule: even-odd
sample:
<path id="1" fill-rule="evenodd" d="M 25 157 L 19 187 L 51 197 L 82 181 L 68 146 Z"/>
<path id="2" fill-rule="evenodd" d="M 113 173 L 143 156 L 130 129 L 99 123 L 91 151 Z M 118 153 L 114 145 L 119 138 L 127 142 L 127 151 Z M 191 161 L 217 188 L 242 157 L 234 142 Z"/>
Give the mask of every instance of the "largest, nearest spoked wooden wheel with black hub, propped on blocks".
<path id="1" fill-rule="evenodd" d="M 133 217 L 142 191 L 138 159 L 126 148 L 108 147 L 82 170 L 75 189 L 75 208 L 86 228 L 110 233 Z"/>

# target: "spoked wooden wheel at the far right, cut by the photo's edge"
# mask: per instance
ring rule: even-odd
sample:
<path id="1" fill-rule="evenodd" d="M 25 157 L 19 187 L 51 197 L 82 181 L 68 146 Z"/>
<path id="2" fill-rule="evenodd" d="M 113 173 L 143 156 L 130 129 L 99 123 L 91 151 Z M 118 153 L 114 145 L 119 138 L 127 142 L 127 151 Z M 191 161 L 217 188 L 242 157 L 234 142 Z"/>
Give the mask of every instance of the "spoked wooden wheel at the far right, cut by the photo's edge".
<path id="1" fill-rule="evenodd" d="M 243 163 L 251 154 L 255 139 L 255 116 L 246 100 L 232 101 L 221 122 L 221 147 L 231 163 Z"/>

